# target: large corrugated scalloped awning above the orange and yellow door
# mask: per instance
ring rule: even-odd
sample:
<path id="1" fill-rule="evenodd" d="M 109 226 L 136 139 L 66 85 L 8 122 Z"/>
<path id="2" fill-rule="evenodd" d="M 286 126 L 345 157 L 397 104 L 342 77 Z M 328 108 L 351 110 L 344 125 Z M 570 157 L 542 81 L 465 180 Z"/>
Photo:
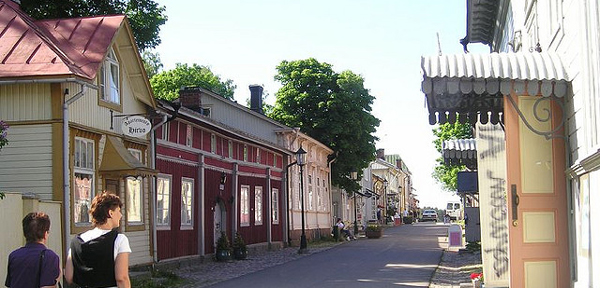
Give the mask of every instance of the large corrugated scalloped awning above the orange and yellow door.
<path id="1" fill-rule="evenodd" d="M 551 53 L 456 54 L 421 58 L 429 123 L 497 124 L 503 95 L 563 97 L 569 77 Z M 458 118 L 456 115 L 458 114 Z"/>

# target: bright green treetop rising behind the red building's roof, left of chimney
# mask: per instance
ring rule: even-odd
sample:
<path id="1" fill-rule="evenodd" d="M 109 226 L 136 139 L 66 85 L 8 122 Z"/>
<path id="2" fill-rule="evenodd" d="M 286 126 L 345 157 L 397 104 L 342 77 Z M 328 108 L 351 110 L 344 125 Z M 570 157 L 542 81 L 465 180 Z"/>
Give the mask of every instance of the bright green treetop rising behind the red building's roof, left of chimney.
<path id="1" fill-rule="evenodd" d="M 211 90 L 227 99 L 233 99 L 236 86 L 233 80 L 221 81 L 210 68 L 193 64 L 177 63 L 175 69 L 162 71 L 150 78 L 154 96 L 159 99 L 174 100 L 179 98 L 179 89 L 185 86 L 199 86 Z"/>

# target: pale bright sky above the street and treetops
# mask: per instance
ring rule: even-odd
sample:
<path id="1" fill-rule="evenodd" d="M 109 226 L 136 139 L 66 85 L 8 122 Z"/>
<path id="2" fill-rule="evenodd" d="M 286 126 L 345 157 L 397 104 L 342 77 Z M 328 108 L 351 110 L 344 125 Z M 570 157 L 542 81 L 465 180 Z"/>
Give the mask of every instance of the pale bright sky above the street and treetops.
<path id="1" fill-rule="evenodd" d="M 237 85 L 246 103 L 248 85 L 261 84 L 275 101 L 273 80 L 282 60 L 313 57 L 337 72 L 352 70 L 376 97 L 381 120 L 377 148 L 399 154 L 413 173 L 421 207 L 445 207 L 448 199 L 431 178 L 439 153 L 421 92 L 421 56 L 463 53 L 466 0 L 219 0 L 166 1 L 161 27 L 164 69 L 176 63 L 209 66 Z M 483 49 L 485 51 L 485 49 Z"/>

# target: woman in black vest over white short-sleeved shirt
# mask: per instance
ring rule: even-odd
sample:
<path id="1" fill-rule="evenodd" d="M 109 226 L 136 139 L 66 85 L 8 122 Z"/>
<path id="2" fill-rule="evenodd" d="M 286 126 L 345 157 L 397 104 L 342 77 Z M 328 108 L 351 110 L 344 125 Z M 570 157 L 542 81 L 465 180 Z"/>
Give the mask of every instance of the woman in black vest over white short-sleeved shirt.
<path id="1" fill-rule="evenodd" d="M 71 240 L 65 277 L 81 287 L 130 288 L 129 240 L 119 233 L 119 196 L 102 192 L 92 201 L 90 214 L 94 228 Z"/>

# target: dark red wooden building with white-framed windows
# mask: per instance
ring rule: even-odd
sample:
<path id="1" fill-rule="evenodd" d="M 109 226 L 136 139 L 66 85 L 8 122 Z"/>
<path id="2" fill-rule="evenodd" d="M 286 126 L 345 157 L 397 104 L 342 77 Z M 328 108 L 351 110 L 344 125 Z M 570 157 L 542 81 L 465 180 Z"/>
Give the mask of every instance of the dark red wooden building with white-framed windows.
<path id="1" fill-rule="evenodd" d="M 211 114 L 265 117 L 201 88 L 159 104 L 170 116 L 156 133 L 157 260 L 212 254 L 221 231 L 230 239 L 239 231 L 250 245 L 283 243 L 292 152 Z"/>

